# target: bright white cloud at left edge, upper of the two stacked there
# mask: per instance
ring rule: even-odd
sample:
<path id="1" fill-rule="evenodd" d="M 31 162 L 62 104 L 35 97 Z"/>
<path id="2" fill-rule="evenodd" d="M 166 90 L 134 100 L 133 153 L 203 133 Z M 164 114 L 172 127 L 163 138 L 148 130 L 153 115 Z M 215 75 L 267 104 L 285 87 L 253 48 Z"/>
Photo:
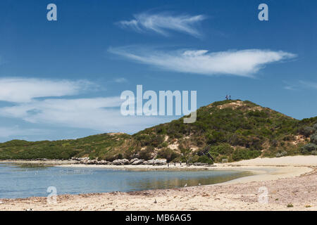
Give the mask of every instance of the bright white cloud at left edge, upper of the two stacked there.
<path id="1" fill-rule="evenodd" d="M 32 98 L 72 96 L 90 85 L 84 80 L 0 78 L 0 101 L 25 103 L 32 101 Z"/>

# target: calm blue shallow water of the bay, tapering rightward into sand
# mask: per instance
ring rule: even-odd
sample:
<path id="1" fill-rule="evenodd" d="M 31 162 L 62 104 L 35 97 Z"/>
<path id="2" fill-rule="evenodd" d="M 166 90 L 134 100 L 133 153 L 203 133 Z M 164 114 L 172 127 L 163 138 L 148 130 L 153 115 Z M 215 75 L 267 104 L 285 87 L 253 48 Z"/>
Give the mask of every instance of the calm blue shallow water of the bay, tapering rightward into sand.
<path id="1" fill-rule="evenodd" d="M 0 163 L 0 198 L 47 196 L 49 186 L 55 186 L 58 195 L 141 191 L 216 184 L 247 175 L 250 173 L 240 171 L 133 171 Z"/>

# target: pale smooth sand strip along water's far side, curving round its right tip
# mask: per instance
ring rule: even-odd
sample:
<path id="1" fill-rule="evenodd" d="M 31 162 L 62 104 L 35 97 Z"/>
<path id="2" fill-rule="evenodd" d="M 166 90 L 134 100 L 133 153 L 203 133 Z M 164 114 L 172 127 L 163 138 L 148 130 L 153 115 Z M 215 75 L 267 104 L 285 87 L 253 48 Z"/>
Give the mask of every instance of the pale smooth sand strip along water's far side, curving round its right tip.
<path id="1" fill-rule="evenodd" d="M 290 163 L 292 159 L 295 162 Z M 282 159 L 282 162 L 280 162 Z M 308 160 L 310 159 L 310 160 Z M 312 159 L 312 160 L 311 160 Z M 287 161 L 287 163 L 285 163 Z M 299 162 L 300 161 L 300 162 Z M 256 158 L 238 162 L 216 163 L 214 165 L 186 165 L 176 163 L 168 165 L 85 165 L 78 164 L 75 160 L 0 160 L 0 163 L 13 163 L 21 165 L 40 165 L 47 167 L 69 167 L 69 168 L 96 168 L 96 169 L 128 169 L 134 171 L 166 170 L 166 171 L 199 171 L 199 170 L 233 170 L 251 172 L 252 175 L 243 176 L 223 183 L 210 184 L 237 184 L 252 181 L 273 181 L 277 179 L 300 176 L 313 171 L 317 167 L 317 156 L 297 155 L 283 158 Z"/>

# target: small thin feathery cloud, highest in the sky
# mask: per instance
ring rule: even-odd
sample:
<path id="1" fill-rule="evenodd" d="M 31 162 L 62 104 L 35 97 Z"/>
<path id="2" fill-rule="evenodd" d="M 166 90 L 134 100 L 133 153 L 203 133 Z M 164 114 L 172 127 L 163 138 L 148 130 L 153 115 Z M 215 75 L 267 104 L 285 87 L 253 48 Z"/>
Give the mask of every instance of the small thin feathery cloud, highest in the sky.
<path id="1" fill-rule="evenodd" d="M 166 12 L 157 14 L 139 13 L 134 15 L 133 20 L 123 20 L 118 22 L 118 25 L 132 28 L 137 32 L 154 31 L 168 36 L 166 30 L 175 30 L 199 37 L 201 33 L 194 25 L 205 19 L 204 15 L 172 15 Z"/>

